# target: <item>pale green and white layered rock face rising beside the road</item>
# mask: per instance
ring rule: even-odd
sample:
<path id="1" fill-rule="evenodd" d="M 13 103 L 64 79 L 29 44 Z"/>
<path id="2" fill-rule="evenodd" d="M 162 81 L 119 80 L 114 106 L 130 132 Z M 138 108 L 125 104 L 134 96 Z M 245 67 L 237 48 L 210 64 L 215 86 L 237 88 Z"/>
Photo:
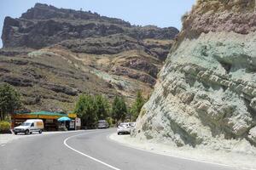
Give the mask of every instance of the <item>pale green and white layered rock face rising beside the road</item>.
<path id="1" fill-rule="evenodd" d="M 254 0 L 198 0 L 133 135 L 256 154 L 255 31 Z"/>

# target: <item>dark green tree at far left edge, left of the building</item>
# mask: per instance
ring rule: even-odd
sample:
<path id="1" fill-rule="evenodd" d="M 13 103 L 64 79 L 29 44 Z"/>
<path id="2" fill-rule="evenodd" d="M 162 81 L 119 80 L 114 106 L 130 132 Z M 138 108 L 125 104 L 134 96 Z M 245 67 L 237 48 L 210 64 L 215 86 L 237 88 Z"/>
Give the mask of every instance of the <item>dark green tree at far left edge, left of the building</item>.
<path id="1" fill-rule="evenodd" d="M 0 85 L 0 120 L 14 114 L 21 106 L 20 93 L 7 83 Z"/>

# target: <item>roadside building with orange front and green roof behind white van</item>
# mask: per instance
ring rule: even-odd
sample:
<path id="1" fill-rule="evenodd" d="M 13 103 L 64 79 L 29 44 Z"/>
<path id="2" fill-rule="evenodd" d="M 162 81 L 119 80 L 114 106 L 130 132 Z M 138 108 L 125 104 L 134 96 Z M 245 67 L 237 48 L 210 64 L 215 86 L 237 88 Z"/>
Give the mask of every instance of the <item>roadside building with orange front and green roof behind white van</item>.
<path id="1" fill-rule="evenodd" d="M 11 127 L 19 126 L 27 119 L 42 119 L 44 121 L 44 130 L 55 131 L 59 129 L 58 119 L 62 116 L 67 116 L 71 119 L 70 129 L 75 129 L 75 120 L 77 115 L 74 113 L 52 112 L 52 111 L 38 111 L 30 113 L 17 112 L 11 116 Z"/>

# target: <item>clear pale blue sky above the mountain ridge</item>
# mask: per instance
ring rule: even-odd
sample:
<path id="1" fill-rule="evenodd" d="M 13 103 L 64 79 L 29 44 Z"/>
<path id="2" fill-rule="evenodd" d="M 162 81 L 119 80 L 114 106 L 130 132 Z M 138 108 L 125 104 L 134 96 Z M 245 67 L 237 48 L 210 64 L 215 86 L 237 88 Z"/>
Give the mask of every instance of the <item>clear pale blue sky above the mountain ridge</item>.
<path id="1" fill-rule="evenodd" d="M 57 8 L 73 8 L 119 18 L 131 25 L 159 27 L 174 26 L 181 29 L 181 16 L 189 11 L 196 0 L 1 0 L 0 30 L 6 16 L 19 18 L 35 3 L 46 3 Z M 2 48 L 2 39 L 0 48 Z"/>

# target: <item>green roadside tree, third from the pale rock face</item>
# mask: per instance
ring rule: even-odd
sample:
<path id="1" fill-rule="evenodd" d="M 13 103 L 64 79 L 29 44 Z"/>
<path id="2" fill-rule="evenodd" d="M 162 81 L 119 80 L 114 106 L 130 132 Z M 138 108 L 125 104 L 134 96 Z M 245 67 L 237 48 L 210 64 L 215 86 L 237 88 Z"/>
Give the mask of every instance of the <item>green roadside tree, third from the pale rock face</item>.
<path id="1" fill-rule="evenodd" d="M 99 120 L 106 120 L 109 115 L 109 105 L 108 100 L 102 95 L 96 95 L 96 115 Z"/>

